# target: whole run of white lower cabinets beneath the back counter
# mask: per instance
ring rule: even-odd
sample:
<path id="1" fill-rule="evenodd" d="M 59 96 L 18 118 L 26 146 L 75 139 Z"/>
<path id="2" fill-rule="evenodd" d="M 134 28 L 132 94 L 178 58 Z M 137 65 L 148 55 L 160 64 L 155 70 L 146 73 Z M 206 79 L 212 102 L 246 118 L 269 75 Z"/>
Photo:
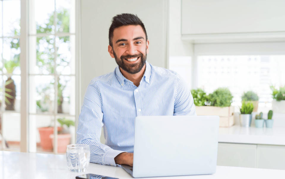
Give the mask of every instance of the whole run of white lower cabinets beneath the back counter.
<path id="1" fill-rule="evenodd" d="M 285 146 L 219 143 L 217 165 L 285 170 Z"/>

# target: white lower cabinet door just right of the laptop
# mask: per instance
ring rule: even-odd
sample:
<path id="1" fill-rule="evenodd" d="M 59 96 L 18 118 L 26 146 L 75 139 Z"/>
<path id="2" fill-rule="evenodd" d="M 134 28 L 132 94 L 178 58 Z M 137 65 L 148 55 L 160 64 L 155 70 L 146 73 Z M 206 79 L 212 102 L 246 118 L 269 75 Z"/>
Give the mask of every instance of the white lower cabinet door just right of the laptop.
<path id="1" fill-rule="evenodd" d="M 217 165 L 256 168 L 256 144 L 219 143 Z"/>

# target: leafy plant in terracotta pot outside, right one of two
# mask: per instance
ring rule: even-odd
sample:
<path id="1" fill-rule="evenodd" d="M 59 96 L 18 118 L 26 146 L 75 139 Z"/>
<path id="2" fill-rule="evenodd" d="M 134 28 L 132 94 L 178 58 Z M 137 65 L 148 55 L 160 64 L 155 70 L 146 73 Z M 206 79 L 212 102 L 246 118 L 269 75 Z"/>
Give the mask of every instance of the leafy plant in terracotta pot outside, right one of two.
<path id="1" fill-rule="evenodd" d="M 64 128 L 64 125 L 69 129 L 69 126 L 74 126 L 74 122 L 72 120 L 68 120 L 65 118 L 59 118 L 57 121 L 61 124 L 63 130 L 58 132 L 57 135 L 57 152 L 58 153 L 66 153 L 66 147 L 70 144 L 71 135 L 69 131 Z M 50 139 L 52 140 L 52 145 L 54 144 L 54 135 L 50 134 Z"/>

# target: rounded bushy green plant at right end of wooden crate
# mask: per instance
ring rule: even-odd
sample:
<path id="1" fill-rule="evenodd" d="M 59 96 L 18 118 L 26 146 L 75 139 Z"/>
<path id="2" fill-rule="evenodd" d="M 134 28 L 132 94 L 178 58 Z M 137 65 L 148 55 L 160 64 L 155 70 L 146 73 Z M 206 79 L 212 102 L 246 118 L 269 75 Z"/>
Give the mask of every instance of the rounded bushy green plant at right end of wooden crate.
<path id="1" fill-rule="evenodd" d="M 211 106 L 231 106 L 232 98 L 232 93 L 227 88 L 218 88 L 213 93 L 209 94 L 209 101 L 212 102 Z"/>

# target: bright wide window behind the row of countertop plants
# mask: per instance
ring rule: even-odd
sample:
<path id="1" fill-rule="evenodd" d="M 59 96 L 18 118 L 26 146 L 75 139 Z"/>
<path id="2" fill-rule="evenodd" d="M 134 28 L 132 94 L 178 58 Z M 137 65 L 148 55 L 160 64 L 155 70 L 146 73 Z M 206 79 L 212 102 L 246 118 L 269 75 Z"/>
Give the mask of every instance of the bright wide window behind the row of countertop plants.
<path id="1" fill-rule="evenodd" d="M 232 92 L 232 106 L 241 106 L 243 92 L 259 96 L 259 111 L 271 109 L 272 91 L 285 85 L 285 55 L 227 55 L 197 57 L 197 87 L 211 93 L 218 87 Z"/>

